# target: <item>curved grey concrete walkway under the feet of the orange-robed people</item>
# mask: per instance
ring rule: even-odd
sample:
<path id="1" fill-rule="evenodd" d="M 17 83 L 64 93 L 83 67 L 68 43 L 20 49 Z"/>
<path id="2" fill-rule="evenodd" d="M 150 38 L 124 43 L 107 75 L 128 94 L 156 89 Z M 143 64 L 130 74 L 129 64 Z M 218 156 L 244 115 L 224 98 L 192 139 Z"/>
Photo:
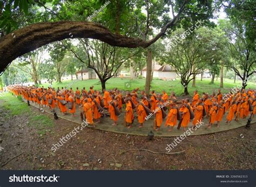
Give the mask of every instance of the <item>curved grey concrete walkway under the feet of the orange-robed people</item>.
<path id="1" fill-rule="evenodd" d="M 26 101 L 24 101 L 24 102 L 26 102 Z M 43 107 L 42 109 L 40 109 L 38 105 L 35 105 L 35 103 L 32 103 L 32 102 L 30 102 L 30 105 L 31 105 L 31 107 L 38 108 L 38 110 L 41 110 L 42 113 L 46 112 L 46 113 L 49 113 L 49 114 L 53 115 L 53 113 L 50 112 L 49 107 L 46 107 L 46 108 Z M 65 120 L 68 120 L 68 121 L 71 121 L 71 122 L 74 122 L 74 123 L 77 123 L 77 124 L 82 124 L 82 121 L 80 120 L 80 112 L 79 112 L 79 109 L 78 109 L 77 106 L 76 106 L 76 115 L 77 115 L 76 117 L 72 117 L 72 115 L 70 113 L 68 113 L 67 115 L 63 115 L 62 113 L 60 113 L 60 110 L 59 110 L 58 107 L 56 107 L 55 110 L 56 110 L 56 113 L 57 113 L 59 118 L 62 118 L 62 119 L 65 119 Z M 225 123 L 226 115 L 223 117 L 223 121 L 220 123 L 219 128 L 217 126 L 212 126 L 211 129 L 207 128 L 208 119 L 204 119 L 203 120 L 204 124 L 202 126 L 200 126 L 197 130 L 191 129 L 191 131 L 193 133 L 190 133 L 190 136 L 212 134 L 212 133 L 218 133 L 218 132 L 221 132 L 221 131 L 231 130 L 231 129 L 235 129 L 235 128 L 245 126 L 245 124 L 247 122 L 247 119 L 246 120 L 240 119 L 238 122 L 237 121 L 232 121 L 231 124 L 227 124 L 227 123 Z M 143 128 L 138 128 L 138 120 L 137 120 L 137 117 L 136 117 L 135 120 L 134 120 L 134 123 L 132 125 L 132 128 L 127 129 L 123 125 L 124 124 L 124 112 L 122 112 L 122 115 L 120 117 L 118 117 L 118 125 L 117 126 L 112 126 L 113 121 L 110 120 L 110 117 L 104 117 L 104 118 L 102 117 L 100 119 L 100 123 L 95 123 L 96 124 L 95 129 L 112 131 L 114 133 L 140 135 L 140 136 L 147 136 L 149 131 L 152 130 L 153 133 L 154 133 L 154 136 L 162 136 L 162 137 L 180 136 L 181 134 L 184 133 L 183 129 L 180 128 L 178 130 L 177 126 L 173 128 L 173 131 L 167 131 L 167 127 L 164 126 L 166 119 L 164 119 L 160 130 L 155 131 L 155 130 L 153 130 L 153 119 L 154 119 L 154 116 L 152 116 L 149 120 L 144 122 L 144 127 Z M 256 122 L 255 119 L 256 119 L 256 117 L 254 117 L 251 124 Z M 190 128 L 192 127 L 192 122 L 190 122 L 188 127 L 190 127 Z M 186 133 L 186 136 L 188 136 L 187 133 Z"/>

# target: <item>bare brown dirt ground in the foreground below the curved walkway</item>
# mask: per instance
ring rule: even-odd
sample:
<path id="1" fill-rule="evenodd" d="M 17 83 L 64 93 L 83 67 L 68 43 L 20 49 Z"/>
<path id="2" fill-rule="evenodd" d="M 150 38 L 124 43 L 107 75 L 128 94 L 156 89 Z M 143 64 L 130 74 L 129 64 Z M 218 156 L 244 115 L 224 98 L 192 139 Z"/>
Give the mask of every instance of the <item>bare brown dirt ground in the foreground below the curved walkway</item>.
<path id="1" fill-rule="evenodd" d="M 77 130 L 75 136 L 66 139 L 62 146 L 56 146 L 58 149 L 53 152 L 53 144 L 67 134 L 75 134 L 73 130 L 75 127 L 78 129 L 78 124 L 62 119 L 52 120 L 53 127 L 46 130 L 45 135 L 39 135 L 30 124 L 31 114 L 11 116 L 10 111 L 3 109 L 2 102 L 0 100 L 2 170 L 255 169 L 255 124 L 250 130 L 241 127 L 213 135 L 188 137 L 171 152 L 185 151 L 174 155 L 130 150 L 147 149 L 164 153 L 166 144 L 172 143 L 173 137 L 157 137 L 149 141 L 145 136 L 126 136 L 89 128 Z M 33 108 L 31 113 L 42 114 Z M 53 118 L 51 115 L 49 117 Z"/>

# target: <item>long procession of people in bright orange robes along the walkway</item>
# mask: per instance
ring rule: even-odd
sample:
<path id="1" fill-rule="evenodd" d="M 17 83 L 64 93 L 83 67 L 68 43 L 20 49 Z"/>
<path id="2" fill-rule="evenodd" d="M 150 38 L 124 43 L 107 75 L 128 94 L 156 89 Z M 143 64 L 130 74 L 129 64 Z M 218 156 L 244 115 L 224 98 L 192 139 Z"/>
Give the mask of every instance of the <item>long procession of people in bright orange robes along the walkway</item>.
<path id="1" fill-rule="evenodd" d="M 158 94 L 152 91 L 150 95 L 146 95 L 144 91 L 139 91 L 139 88 L 126 92 L 125 95 L 117 88 L 108 91 L 103 89 L 102 93 L 94 90 L 93 86 L 87 91 L 85 87 L 82 90 L 78 87 L 73 90 L 63 87 L 55 89 L 15 85 L 8 86 L 8 91 L 22 95 L 28 103 L 36 103 L 39 107 L 48 106 L 49 110 L 53 111 L 58 107 L 63 115 L 69 110 L 69 113 L 76 117 L 78 106 L 81 120 L 85 118 L 93 127 L 95 122 L 100 123 L 101 117 L 107 116 L 110 116 L 113 126 L 116 126 L 124 105 L 124 125 L 127 128 L 132 127 L 135 117 L 139 128 L 142 128 L 144 121 L 152 116 L 154 130 L 159 130 L 163 119 L 166 118 L 165 126 L 168 131 L 172 131 L 174 126 L 186 130 L 191 121 L 192 128 L 195 128 L 204 117 L 208 119 L 208 128 L 211 128 L 213 124 L 219 127 L 225 113 L 226 123 L 253 117 L 256 113 L 256 91 L 251 89 L 226 94 L 221 93 L 219 89 L 217 94 L 203 93 L 201 96 L 194 91 L 191 102 L 188 98 L 177 101 L 174 92 L 168 95 L 165 91 Z"/>

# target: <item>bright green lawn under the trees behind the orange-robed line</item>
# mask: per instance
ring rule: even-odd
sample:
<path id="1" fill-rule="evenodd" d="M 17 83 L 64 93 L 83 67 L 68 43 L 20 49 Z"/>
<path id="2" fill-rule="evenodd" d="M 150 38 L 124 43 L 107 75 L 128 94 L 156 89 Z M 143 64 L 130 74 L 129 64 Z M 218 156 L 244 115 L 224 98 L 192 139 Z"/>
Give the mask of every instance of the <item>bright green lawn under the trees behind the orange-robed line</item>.
<path id="1" fill-rule="evenodd" d="M 125 91 L 131 91 L 134 88 L 139 87 L 140 90 L 144 89 L 145 86 L 145 78 L 143 79 L 134 79 L 130 81 L 130 78 L 111 78 L 106 82 L 106 89 L 113 89 L 113 88 L 118 88 L 120 90 L 125 90 Z M 192 81 L 188 85 L 188 92 L 190 94 L 193 94 L 193 91 L 195 89 L 198 90 L 198 92 L 201 94 L 202 92 L 208 92 L 212 93 L 212 91 L 218 91 L 219 85 L 220 85 L 220 79 L 218 81 L 214 81 L 214 84 L 209 84 L 210 79 L 203 79 L 201 81 L 200 79 L 196 80 L 196 87 L 192 87 Z M 94 86 L 94 89 L 99 89 L 101 90 L 101 84 L 99 79 L 90 79 L 90 80 L 67 80 L 63 81 L 62 83 L 57 83 L 54 82 L 52 87 L 72 87 L 72 89 L 76 89 L 76 87 L 79 87 L 79 89 L 82 89 L 85 87 L 87 90 L 89 89 L 90 86 Z M 42 84 L 39 86 L 44 86 L 48 87 L 49 84 Z M 240 87 L 241 86 L 241 81 L 237 80 L 237 82 L 234 84 L 233 80 L 230 79 L 225 79 L 224 81 L 224 88 L 223 93 L 228 92 L 231 88 L 234 87 Z M 248 82 L 247 88 L 252 88 L 256 89 L 256 83 L 255 82 Z M 164 81 L 164 80 L 159 80 L 159 79 L 153 79 L 151 83 L 151 90 L 155 90 L 158 93 L 161 93 L 163 90 L 165 90 L 168 94 L 170 94 L 172 91 L 176 93 L 176 95 L 181 95 L 184 92 L 184 87 L 183 85 L 180 84 L 180 79 L 171 81 Z"/>

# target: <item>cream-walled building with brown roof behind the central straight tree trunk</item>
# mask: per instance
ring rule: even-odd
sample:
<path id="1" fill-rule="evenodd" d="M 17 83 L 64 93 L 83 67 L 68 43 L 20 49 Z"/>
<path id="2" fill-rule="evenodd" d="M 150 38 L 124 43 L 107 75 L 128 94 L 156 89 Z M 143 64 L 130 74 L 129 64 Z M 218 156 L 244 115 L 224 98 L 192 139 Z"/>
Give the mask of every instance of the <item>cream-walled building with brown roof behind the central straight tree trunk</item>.
<path id="1" fill-rule="evenodd" d="M 163 79 L 163 80 L 175 80 L 177 73 L 174 67 L 170 65 L 159 65 L 154 64 L 152 67 L 153 78 Z M 143 77 L 146 77 L 147 68 L 142 69 Z"/>

